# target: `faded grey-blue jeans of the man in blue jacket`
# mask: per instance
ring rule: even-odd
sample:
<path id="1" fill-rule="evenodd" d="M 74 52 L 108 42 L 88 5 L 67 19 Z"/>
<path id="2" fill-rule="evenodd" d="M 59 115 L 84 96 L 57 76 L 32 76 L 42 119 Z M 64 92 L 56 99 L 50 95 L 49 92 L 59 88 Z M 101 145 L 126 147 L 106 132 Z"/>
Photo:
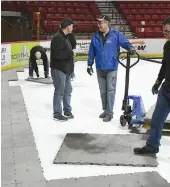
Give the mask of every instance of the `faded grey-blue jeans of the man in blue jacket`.
<path id="1" fill-rule="evenodd" d="M 106 114 L 113 116 L 116 94 L 117 71 L 97 70 L 101 101 Z"/>

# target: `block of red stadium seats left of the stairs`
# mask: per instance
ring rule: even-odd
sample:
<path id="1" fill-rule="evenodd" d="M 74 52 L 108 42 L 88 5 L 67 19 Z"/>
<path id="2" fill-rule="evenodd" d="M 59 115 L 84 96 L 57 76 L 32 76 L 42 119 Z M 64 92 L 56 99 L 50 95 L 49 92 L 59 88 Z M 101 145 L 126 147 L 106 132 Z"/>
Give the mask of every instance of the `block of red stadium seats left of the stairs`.
<path id="1" fill-rule="evenodd" d="M 2 2 L 2 10 L 22 11 L 23 9 L 31 16 L 34 12 L 40 12 L 41 27 L 46 34 L 57 32 L 63 18 L 71 18 L 78 23 L 74 28 L 76 33 L 94 32 L 97 25 L 94 25 L 93 22 L 95 22 L 96 17 L 101 15 L 100 10 L 93 1 Z"/>

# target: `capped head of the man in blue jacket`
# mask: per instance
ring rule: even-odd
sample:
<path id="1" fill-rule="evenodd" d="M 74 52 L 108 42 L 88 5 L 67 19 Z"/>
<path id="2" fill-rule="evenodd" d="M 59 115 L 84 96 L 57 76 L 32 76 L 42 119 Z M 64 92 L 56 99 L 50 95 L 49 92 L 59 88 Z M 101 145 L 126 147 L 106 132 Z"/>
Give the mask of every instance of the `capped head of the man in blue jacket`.
<path id="1" fill-rule="evenodd" d="M 97 24 L 100 32 L 107 32 L 110 27 L 110 18 L 108 16 L 101 16 L 97 19 Z"/>

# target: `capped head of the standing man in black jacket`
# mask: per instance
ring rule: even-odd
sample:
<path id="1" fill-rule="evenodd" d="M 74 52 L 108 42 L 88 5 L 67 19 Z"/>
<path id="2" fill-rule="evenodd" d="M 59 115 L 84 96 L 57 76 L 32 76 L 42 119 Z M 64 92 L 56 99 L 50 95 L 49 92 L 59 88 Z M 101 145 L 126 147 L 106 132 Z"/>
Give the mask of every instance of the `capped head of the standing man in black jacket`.
<path id="1" fill-rule="evenodd" d="M 63 21 L 61 22 L 61 30 L 65 33 L 65 34 L 69 34 L 72 33 L 73 31 L 73 24 L 75 24 L 75 22 L 71 19 L 63 19 Z"/>

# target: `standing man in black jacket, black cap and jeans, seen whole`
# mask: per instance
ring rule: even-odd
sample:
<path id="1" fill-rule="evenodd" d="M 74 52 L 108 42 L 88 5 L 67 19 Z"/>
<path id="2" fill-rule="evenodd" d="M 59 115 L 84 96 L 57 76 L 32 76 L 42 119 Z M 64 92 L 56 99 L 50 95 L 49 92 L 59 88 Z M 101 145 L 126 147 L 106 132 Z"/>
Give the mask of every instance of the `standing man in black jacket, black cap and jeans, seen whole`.
<path id="1" fill-rule="evenodd" d="M 53 117 L 55 120 L 67 121 L 73 118 L 71 113 L 71 74 L 74 71 L 73 51 L 68 34 L 72 33 L 74 22 L 64 19 L 61 29 L 54 35 L 51 41 L 51 77 L 54 85 Z M 64 115 L 62 115 L 62 102 Z"/>

